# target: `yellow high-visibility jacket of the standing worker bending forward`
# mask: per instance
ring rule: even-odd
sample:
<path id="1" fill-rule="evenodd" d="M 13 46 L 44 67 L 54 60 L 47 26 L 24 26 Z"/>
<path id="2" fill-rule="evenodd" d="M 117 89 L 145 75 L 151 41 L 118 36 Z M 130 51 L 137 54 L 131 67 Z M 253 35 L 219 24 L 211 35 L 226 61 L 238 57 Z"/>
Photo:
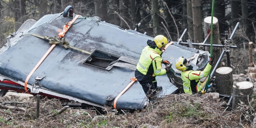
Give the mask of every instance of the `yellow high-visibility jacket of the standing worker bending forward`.
<path id="1" fill-rule="evenodd" d="M 159 48 L 151 48 L 146 46 L 141 53 L 140 60 L 137 64 L 137 70 L 143 75 L 156 76 L 163 75 L 166 73 L 165 69 L 162 68 L 161 51 Z"/>

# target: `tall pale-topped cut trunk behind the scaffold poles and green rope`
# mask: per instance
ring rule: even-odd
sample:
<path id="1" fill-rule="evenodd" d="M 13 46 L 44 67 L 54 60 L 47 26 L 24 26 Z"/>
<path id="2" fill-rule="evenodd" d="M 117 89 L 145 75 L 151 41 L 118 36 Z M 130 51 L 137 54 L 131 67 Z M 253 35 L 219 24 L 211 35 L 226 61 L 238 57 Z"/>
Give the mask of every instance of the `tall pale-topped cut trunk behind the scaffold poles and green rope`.
<path id="1" fill-rule="evenodd" d="M 211 16 L 205 17 L 204 18 L 204 37 L 206 38 L 208 33 L 207 31 L 210 29 L 211 30 Z M 211 37 L 208 38 L 207 44 L 211 44 Z M 218 25 L 218 19 L 216 17 L 213 17 L 213 44 L 221 44 L 221 41 L 219 40 L 219 25 Z M 208 51 L 210 53 L 211 47 L 205 47 L 205 51 Z M 220 47 L 213 47 L 212 48 L 212 53 L 214 56 L 214 62 L 213 66 L 215 67 L 218 58 L 221 56 L 221 48 Z M 218 67 L 221 67 L 221 63 L 219 63 Z M 213 69 L 213 68 L 212 68 Z"/>

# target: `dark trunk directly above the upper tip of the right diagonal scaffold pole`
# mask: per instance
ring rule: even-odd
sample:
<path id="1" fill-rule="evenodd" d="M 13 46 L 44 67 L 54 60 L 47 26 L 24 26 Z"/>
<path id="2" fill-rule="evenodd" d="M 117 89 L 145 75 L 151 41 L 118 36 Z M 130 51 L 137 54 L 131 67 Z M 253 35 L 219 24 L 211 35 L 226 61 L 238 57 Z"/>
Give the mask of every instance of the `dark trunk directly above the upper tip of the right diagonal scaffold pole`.
<path id="1" fill-rule="evenodd" d="M 238 2 L 237 0 L 231 0 L 231 17 L 232 17 L 232 27 L 234 28 L 238 22 Z"/>

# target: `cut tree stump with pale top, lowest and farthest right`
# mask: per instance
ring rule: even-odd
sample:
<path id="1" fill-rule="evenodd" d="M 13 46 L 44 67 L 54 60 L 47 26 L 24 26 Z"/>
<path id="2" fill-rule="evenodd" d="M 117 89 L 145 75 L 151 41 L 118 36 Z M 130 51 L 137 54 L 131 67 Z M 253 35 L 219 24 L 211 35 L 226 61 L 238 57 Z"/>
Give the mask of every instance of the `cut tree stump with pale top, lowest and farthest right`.
<path id="1" fill-rule="evenodd" d="M 236 109 L 239 101 L 249 105 L 248 100 L 251 100 L 253 94 L 253 83 L 248 81 L 238 82 L 233 85 L 233 103 L 232 109 Z"/>

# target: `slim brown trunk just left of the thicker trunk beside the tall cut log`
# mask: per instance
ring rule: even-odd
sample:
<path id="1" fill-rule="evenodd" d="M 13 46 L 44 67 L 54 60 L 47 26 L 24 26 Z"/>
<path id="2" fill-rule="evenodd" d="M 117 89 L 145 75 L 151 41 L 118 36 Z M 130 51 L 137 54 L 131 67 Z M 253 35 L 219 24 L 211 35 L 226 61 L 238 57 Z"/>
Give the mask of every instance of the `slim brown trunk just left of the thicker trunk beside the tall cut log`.
<path id="1" fill-rule="evenodd" d="M 187 28 L 188 28 L 188 31 L 187 31 L 188 32 L 188 39 L 190 39 L 192 42 L 195 42 L 191 0 L 187 0 Z"/>

